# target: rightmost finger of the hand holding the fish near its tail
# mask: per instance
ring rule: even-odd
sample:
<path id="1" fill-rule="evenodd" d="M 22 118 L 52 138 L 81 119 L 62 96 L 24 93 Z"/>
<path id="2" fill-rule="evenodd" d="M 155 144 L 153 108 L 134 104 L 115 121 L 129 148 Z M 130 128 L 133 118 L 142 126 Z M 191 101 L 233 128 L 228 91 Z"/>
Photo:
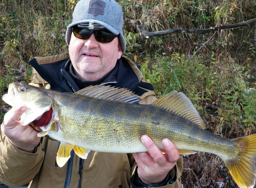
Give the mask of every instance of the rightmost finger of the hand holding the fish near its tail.
<path id="1" fill-rule="evenodd" d="M 162 140 L 163 148 L 166 151 L 165 157 L 171 163 L 176 163 L 180 158 L 177 147 L 167 138 Z"/>

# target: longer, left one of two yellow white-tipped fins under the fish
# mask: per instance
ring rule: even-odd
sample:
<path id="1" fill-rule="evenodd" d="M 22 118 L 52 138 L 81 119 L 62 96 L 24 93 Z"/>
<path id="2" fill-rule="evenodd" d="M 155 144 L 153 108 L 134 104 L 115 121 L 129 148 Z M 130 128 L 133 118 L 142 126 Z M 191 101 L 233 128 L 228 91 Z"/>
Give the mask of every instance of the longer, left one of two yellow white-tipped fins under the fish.
<path id="1" fill-rule="evenodd" d="M 73 149 L 74 145 L 67 142 L 60 142 L 59 149 L 57 151 L 56 162 L 58 166 L 62 167 L 66 164 L 70 158 L 70 152 Z"/>

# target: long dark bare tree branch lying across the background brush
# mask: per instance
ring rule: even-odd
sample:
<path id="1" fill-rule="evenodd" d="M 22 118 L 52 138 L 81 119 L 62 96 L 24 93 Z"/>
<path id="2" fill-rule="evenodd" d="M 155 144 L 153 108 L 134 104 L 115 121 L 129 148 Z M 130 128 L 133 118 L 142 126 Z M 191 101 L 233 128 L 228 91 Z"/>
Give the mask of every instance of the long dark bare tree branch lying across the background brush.
<path id="1" fill-rule="evenodd" d="M 256 22 L 256 18 L 253 18 L 253 19 L 248 20 L 246 22 L 234 23 L 234 24 L 229 24 L 229 25 L 225 25 L 225 26 L 218 26 L 218 27 L 210 27 L 210 28 L 207 28 L 207 29 L 172 28 L 170 30 L 163 30 L 163 31 L 157 31 L 157 32 L 148 32 L 147 28 L 145 26 L 143 26 L 141 24 L 138 24 L 135 21 L 132 21 L 132 23 L 134 23 L 137 26 L 141 37 L 144 38 L 144 39 L 148 39 L 150 37 L 157 37 L 157 36 L 161 36 L 161 35 L 167 35 L 167 34 L 171 34 L 171 33 L 174 33 L 174 32 L 178 32 L 178 33 L 188 32 L 188 33 L 206 34 L 206 33 L 209 33 L 211 31 L 219 31 L 219 30 L 225 30 L 225 29 L 231 29 L 231 28 L 237 28 L 237 27 L 248 27 L 249 24 L 252 23 L 252 22 Z"/>

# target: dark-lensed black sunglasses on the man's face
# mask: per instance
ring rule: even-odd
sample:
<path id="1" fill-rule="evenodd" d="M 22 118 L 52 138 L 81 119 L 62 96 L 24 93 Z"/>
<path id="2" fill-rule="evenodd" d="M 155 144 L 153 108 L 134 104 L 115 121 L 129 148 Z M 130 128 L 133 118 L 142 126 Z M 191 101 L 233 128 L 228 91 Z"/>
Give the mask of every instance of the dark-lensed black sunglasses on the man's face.
<path id="1" fill-rule="evenodd" d="M 84 40 L 89 39 L 91 37 L 91 34 L 93 33 L 95 39 L 98 42 L 103 43 L 112 42 L 113 39 L 118 36 L 108 30 L 90 30 L 87 28 L 72 27 L 72 31 L 76 38 Z"/>

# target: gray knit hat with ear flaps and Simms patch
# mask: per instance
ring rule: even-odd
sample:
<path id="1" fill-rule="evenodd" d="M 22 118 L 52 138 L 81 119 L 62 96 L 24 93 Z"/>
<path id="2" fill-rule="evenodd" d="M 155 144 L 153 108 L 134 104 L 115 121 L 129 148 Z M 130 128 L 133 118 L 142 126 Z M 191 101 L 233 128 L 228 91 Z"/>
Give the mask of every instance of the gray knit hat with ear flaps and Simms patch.
<path id="1" fill-rule="evenodd" d="M 99 24 L 118 35 L 119 42 L 125 51 L 125 39 L 123 35 L 123 12 L 120 5 L 114 0 L 80 0 L 73 12 L 73 21 L 66 32 L 66 42 L 69 45 L 72 26 L 81 23 Z"/>

